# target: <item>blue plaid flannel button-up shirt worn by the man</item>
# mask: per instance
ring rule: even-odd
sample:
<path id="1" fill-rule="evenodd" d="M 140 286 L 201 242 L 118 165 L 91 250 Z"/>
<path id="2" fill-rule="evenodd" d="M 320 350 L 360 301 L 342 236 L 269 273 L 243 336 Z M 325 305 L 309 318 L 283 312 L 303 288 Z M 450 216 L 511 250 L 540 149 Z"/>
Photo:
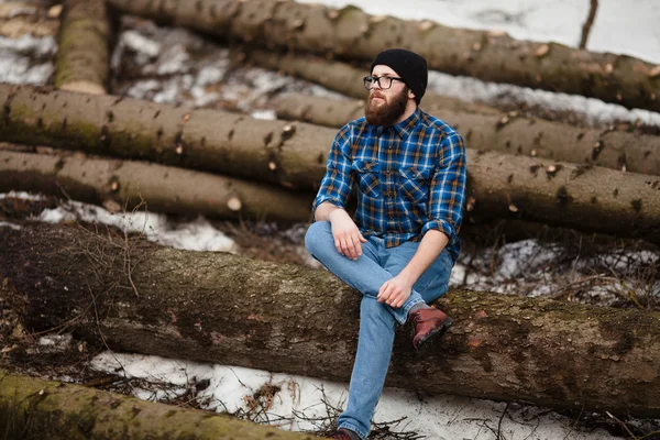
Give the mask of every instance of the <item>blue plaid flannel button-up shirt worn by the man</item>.
<path id="1" fill-rule="evenodd" d="M 358 182 L 354 220 L 364 237 L 392 248 L 435 229 L 449 237 L 455 261 L 465 180 L 463 138 L 443 121 L 419 109 L 387 128 L 360 118 L 337 133 L 314 209 L 323 201 L 345 208 Z"/>

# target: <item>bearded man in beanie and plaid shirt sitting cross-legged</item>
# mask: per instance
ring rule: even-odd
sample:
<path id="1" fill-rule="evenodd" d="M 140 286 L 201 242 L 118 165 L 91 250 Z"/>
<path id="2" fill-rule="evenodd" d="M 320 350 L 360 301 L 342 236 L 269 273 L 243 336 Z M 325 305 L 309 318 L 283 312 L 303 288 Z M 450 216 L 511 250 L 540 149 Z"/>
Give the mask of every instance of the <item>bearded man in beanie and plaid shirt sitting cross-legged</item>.
<path id="1" fill-rule="evenodd" d="M 418 106 L 426 61 L 380 53 L 364 78 L 365 117 L 334 138 L 314 202 L 307 250 L 362 293 L 358 353 L 336 439 L 365 439 L 383 391 L 395 326 L 411 321 L 417 350 L 452 319 L 429 307 L 448 289 L 465 197 L 461 135 Z M 354 219 L 345 207 L 358 184 Z"/>

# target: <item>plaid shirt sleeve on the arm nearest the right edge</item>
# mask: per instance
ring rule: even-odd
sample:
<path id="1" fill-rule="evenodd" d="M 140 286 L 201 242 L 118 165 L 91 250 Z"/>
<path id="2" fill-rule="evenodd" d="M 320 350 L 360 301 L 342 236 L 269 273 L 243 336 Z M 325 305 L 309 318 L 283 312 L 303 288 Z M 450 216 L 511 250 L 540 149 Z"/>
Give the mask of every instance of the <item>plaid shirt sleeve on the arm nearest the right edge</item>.
<path id="1" fill-rule="evenodd" d="M 468 179 L 463 138 L 454 132 L 442 140 L 440 148 L 440 161 L 431 180 L 428 221 L 421 234 L 435 229 L 453 241 L 463 220 Z"/>

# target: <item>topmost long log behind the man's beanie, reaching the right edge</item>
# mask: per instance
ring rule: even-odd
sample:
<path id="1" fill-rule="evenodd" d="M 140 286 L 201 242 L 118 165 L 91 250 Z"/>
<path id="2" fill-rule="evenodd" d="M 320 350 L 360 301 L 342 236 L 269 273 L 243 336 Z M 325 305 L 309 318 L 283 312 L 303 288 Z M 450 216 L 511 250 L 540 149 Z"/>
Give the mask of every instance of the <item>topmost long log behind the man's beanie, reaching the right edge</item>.
<path id="1" fill-rule="evenodd" d="M 431 21 L 372 16 L 294 1 L 109 0 L 121 11 L 268 46 L 372 61 L 388 47 L 413 50 L 429 67 L 495 82 L 584 95 L 660 111 L 660 67 L 630 56 L 557 43 L 516 41 L 502 32 L 451 29 Z"/>

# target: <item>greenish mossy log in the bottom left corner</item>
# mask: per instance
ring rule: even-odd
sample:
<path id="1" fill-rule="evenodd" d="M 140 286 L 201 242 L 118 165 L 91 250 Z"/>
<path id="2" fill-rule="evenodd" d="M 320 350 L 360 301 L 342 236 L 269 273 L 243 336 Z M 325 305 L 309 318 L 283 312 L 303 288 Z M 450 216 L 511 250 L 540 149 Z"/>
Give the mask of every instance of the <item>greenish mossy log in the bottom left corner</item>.
<path id="1" fill-rule="evenodd" d="M 2 371 L 0 432 L 4 439 L 54 440 L 314 438 L 227 416 Z"/>

